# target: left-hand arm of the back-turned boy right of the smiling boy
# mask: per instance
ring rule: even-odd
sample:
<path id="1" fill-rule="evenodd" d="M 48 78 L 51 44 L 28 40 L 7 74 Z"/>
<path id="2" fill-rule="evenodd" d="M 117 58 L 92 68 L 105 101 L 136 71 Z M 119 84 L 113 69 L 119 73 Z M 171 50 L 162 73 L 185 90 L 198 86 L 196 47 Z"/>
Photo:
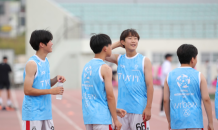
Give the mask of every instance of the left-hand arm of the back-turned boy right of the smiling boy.
<path id="1" fill-rule="evenodd" d="M 167 117 L 170 130 L 170 90 L 167 83 L 167 77 L 164 82 L 164 110 Z"/>

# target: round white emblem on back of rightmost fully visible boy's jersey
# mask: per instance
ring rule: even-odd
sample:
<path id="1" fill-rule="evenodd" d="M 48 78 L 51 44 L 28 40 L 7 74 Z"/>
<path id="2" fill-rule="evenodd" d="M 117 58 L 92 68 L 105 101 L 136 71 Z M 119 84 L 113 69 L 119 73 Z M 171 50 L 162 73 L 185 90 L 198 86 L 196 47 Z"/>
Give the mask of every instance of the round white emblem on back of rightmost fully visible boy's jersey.
<path id="1" fill-rule="evenodd" d="M 176 79 L 177 85 L 181 88 L 188 88 L 188 85 L 190 84 L 190 78 L 187 75 L 180 75 Z"/>

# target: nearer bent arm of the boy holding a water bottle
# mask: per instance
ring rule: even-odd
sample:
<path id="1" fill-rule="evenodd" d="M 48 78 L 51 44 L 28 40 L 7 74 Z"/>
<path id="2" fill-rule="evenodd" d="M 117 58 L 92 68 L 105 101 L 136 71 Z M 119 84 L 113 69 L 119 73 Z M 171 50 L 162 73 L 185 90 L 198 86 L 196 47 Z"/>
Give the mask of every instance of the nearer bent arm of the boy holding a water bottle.
<path id="1" fill-rule="evenodd" d="M 62 94 L 63 87 L 57 87 L 53 89 L 35 89 L 32 87 L 35 74 L 37 72 L 37 65 L 34 61 L 29 61 L 26 65 L 26 77 L 24 79 L 24 94 L 31 96 L 39 96 L 46 94 Z"/>

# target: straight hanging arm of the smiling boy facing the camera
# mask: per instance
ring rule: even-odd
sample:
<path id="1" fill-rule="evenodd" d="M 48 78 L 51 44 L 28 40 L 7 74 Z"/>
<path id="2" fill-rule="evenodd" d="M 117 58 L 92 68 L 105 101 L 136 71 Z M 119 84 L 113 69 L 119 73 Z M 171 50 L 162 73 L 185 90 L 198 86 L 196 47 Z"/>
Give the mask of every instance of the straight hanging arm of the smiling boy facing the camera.
<path id="1" fill-rule="evenodd" d="M 152 65 L 151 61 L 146 57 L 144 60 L 144 74 L 145 74 L 145 82 L 147 86 L 147 106 L 143 111 L 142 118 L 144 121 L 148 121 L 151 118 L 151 106 L 153 100 L 153 78 L 152 78 Z"/>

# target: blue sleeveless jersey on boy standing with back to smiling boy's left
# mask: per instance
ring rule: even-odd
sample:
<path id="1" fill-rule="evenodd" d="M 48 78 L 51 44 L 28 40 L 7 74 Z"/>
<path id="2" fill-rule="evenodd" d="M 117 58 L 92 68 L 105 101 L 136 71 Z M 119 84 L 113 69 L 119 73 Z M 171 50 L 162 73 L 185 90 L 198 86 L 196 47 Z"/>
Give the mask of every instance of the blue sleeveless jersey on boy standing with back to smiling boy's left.
<path id="1" fill-rule="evenodd" d="M 81 88 L 84 124 L 112 124 L 105 84 L 101 76 L 103 64 L 103 60 L 94 58 L 83 68 Z"/>

